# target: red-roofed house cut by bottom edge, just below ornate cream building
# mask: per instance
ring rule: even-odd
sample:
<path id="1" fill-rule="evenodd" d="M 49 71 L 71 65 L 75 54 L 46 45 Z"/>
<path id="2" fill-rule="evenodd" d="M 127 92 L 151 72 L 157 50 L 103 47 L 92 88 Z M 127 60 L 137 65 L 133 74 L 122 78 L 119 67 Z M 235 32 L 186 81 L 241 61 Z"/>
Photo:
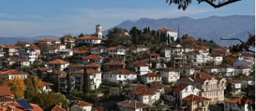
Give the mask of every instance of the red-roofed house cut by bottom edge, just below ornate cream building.
<path id="1" fill-rule="evenodd" d="M 191 94 L 184 99 L 182 99 L 184 102 L 184 105 L 187 107 L 185 108 L 185 111 L 196 111 L 196 110 L 201 110 L 201 111 L 208 111 L 209 104 L 211 99 L 208 99 L 203 96 L 197 96 L 194 94 Z M 182 105 L 182 104 L 181 104 Z"/>

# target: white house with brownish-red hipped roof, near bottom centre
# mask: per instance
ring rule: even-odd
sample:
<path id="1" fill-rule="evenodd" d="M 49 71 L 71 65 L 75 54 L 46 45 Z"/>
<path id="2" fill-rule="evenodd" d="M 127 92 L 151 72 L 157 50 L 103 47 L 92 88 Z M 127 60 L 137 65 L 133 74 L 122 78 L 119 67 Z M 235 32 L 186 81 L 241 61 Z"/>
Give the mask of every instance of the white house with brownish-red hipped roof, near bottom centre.
<path id="1" fill-rule="evenodd" d="M 135 86 L 135 88 L 129 92 L 129 99 L 137 100 L 144 104 L 154 104 L 154 102 L 160 99 L 160 93 L 146 86 Z"/>

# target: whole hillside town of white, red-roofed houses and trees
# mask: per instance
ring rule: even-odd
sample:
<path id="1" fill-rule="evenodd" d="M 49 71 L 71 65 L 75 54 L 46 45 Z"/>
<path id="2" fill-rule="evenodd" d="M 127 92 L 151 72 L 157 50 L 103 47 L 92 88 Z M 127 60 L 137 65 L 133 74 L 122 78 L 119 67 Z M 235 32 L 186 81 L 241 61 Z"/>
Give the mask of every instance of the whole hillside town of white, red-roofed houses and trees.
<path id="1" fill-rule="evenodd" d="M 255 53 L 179 26 L 102 30 L 1 45 L 0 110 L 255 110 Z"/>

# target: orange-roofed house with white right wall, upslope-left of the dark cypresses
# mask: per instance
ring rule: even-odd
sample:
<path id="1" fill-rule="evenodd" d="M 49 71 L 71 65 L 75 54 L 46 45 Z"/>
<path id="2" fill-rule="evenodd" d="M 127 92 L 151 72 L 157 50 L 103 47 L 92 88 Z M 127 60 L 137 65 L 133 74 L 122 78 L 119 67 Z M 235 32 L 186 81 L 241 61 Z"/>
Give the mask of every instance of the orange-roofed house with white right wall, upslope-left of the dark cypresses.
<path id="1" fill-rule="evenodd" d="M 69 62 L 66 62 L 61 59 L 55 59 L 47 63 L 47 66 L 50 67 L 53 70 L 59 70 L 62 71 L 69 65 Z"/>

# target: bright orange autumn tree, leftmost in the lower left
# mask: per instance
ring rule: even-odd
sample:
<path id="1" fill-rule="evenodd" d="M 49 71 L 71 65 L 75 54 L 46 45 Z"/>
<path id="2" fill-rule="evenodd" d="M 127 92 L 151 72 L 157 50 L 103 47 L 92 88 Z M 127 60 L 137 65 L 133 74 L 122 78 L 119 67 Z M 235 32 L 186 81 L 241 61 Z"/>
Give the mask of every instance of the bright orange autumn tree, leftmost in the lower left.
<path id="1" fill-rule="evenodd" d="M 22 99 L 24 96 L 24 91 L 26 86 L 24 84 L 23 78 L 15 78 L 10 83 L 10 91 L 15 95 L 15 98 Z"/>

